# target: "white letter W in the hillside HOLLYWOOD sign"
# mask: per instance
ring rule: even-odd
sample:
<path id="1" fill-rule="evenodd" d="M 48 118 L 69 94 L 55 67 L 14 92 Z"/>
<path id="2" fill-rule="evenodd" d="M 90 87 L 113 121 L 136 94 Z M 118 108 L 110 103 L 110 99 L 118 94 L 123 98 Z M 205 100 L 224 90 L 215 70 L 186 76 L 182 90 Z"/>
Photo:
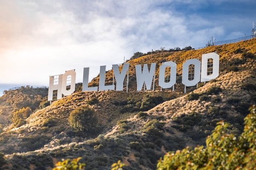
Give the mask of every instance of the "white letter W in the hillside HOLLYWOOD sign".
<path id="1" fill-rule="evenodd" d="M 145 82 L 146 89 L 151 90 L 152 80 L 154 77 L 156 63 L 152 63 L 150 66 L 150 71 L 148 71 L 148 65 L 143 65 L 143 71 L 141 72 L 141 65 L 135 65 L 136 78 L 137 78 L 137 91 L 140 91 Z"/>

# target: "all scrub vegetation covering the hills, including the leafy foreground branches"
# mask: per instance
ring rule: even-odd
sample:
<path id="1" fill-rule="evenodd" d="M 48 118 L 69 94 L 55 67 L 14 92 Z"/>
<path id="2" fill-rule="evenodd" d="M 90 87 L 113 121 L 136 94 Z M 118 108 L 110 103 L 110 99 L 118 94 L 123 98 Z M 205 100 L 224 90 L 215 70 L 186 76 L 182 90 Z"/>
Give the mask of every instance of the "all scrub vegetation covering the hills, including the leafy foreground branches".
<path id="1" fill-rule="evenodd" d="M 219 76 L 198 88 L 187 87 L 184 94 L 183 62 L 209 52 L 220 55 Z M 0 97 L 0 164 L 6 170 L 48 170 L 65 159 L 56 168 L 79 169 L 84 162 L 88 170 L 239 169 L 238 164 L 250 169 L 255 166 L 250 161 L 255 160 L 250 145 L 255 114 L 248 111 L 256 101 L 255 54 L 256 39 L 251 39 L 137 56 L 128 61 L 128 93 L 81 92 L 78 83 L 74 94 L 50 104 L 44 87 L 5 91 Z M 159 65 L 171 60 L 177 63 L 175 91 L 160 91 L 158 76 L 155 91 L 136 91 L 135 65 L 156 62 L 158 75 Z M 113 71 L 107 71 L 106 85 L 112 78 Z M 95 77 L 89 86 L 98 81 Z M 227 142 L 232 147 L 224 145 Z"/>

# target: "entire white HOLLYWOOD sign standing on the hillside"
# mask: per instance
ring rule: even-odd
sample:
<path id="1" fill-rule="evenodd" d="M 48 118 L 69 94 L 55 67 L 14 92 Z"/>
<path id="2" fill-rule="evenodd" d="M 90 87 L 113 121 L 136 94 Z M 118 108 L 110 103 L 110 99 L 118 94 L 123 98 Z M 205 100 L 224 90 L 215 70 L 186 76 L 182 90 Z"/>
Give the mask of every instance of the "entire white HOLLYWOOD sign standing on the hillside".
<path id="1" fill-rule="evenodd" d="M 143 67 L 142 67 L 143 66 Z M 124 85 L 128 92 L 129 82 L 129 63 L 122 65 L 119 71 L 119 65 L 112 65 L 113 68 L 113 85 L 105 85 L 106 65 L 100 66 L 99 87 L 88 87 L 89 69 L 84 68 L 82 91 L 106 91 L 116 90 L 123 91 Z M 156 63 L 148 65 L 135 65 L 137 91 L 154 90 Z M 169 81 L 166 81 L 166 68 L 169 69 Z M 176 83 L 177 64 L 173 61 L 163 62 L 159 69 L 159 86 L 162 89 L 173 88 Z M 202 55 L 202 62 L 198 59 L 188 59 L 183 63 L 182 84 L 186 87 L 195 86 L 198 82 L 207 82 L 215 79 L 219 75 L 219 55 L 208 53 Z M 115 83 L 114 83 L 115 82 Z M 152 87 L 153 84 L 153 87 Z M 75 91 L 76 72 L 75 70 L 66 71 L 64 74 L 50 76 L 48 101 L 61 99 L 63 96 L 71 95 Z"/>

